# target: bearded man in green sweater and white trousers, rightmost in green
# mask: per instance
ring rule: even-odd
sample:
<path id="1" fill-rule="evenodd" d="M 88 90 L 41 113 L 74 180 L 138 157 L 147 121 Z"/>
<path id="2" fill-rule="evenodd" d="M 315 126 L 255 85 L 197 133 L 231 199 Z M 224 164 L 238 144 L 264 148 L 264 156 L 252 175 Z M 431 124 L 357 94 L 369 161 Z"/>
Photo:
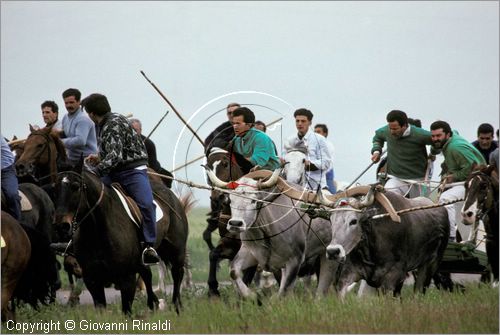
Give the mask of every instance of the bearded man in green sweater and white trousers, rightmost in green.
<path id="1" fill-rule="evenodd" d="M 465 181 L 475 164 L 486 164 L 483 155 L 469 141 L 458 135 L 457 131 L 452 132 L 450 125 L 445 121 L 432 123 L 431 134 L 434 147 L 442 149 L 444 156 L 441 180 L 445 184 L 445 191 L 441 193 L 439 203 L 464 198 L 463 184 L 449 188 L 446 188 L 446 184 Z M 450 219 L 451 240 L 456 239 L 457 208 L 461 206 L 462 202 L 445 206 Z"/>

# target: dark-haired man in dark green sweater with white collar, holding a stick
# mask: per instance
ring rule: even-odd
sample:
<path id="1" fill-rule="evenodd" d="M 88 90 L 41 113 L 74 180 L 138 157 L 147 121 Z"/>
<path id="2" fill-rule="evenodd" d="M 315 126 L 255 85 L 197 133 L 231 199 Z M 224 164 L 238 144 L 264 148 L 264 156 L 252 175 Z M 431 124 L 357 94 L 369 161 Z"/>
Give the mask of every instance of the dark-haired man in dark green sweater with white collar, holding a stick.
<path id="1" fill-rule="evenodd" d="M 419 196 L 418 188 L 410 190 L 411 184 L 407 180 L 421 181 L 427 170 L 427 149 L 431 145 L 431 133 L 422 128 L 408 124 L 405 112 L 392 110 L 386 117 L 387 125 L 375 131 L 373 137 L 371 160 L 377 163 L 380 160 L 382 148 L 387 142 L 386 171 L 388 180 L 387 190 L 410 196 Z"/>

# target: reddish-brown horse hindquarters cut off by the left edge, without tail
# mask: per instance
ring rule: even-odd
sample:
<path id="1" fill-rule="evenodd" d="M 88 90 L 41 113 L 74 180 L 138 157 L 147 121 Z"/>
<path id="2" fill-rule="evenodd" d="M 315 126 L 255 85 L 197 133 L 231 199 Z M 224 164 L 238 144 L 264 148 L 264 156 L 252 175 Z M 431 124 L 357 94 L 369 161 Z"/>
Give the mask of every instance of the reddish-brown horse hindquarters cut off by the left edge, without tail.
<path id="1" fill-rule="evenodd" d="M 14 320 L 9 302 L 31 255 L 31 244 L 19 222 L 2 211 L 2 321 Z M 14 306 L 14 305 L 13 305 Z"/>

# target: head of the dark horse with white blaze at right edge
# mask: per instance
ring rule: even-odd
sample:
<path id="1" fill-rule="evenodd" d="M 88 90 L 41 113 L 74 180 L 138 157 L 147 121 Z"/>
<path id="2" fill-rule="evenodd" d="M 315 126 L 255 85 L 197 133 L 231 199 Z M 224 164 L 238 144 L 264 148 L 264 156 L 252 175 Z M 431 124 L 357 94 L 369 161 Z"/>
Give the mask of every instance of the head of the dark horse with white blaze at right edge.
<path id="1" fill-rule="evenodd" d="M 492 168 L 480 166 L 465 181 L 465 199 L 461 210 L 465 225 L 471 225 L 480 219 L 493 206 L 495 181 L 490 177 Z M 498 189 L 498 185 L 496 185 Z"/>

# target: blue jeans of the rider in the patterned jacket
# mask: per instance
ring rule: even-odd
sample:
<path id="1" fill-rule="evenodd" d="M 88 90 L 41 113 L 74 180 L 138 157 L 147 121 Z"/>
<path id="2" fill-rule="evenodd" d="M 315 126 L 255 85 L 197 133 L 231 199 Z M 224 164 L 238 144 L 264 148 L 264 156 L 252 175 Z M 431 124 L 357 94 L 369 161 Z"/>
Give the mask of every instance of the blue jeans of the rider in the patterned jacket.
<path id="1" fill-rule="evenodd" d="M 153 190 L 146 171 L 130 169 L 112 172 L 101 179 L 108 186 L 112 182 L 119 183 L 125 192 L 134 199 L 144 219 L 142 225 L 144 241 L 154 243 L 156 241 L 156 206 L 153 203 Z"/>

